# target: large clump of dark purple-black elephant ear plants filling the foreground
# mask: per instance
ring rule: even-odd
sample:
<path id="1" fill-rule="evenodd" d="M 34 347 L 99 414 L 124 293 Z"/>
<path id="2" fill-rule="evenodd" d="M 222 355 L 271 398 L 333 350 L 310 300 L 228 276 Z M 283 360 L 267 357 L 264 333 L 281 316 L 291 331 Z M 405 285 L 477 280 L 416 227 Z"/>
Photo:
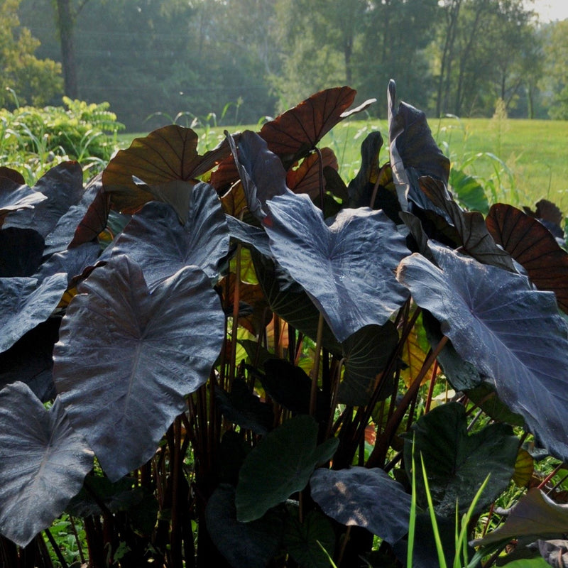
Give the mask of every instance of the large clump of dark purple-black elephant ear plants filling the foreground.
<path id="1" fill-rule="evenodd" d="M 388 156 L 371 133 L 346 184 L 318 144 L 371 104 L 354 97 L 314 94 L 203 155 L 166 126 L 87 187 L 77 163 L 32 188 L 1 170 L 2 565 L 67 565 L 64 512 L 93 568 L 566 551 L 529 453 L 568 459 L 547 207 L 463 209 L 392 82 Z M 532 488 L 476 530 L 512 479 Z"/>

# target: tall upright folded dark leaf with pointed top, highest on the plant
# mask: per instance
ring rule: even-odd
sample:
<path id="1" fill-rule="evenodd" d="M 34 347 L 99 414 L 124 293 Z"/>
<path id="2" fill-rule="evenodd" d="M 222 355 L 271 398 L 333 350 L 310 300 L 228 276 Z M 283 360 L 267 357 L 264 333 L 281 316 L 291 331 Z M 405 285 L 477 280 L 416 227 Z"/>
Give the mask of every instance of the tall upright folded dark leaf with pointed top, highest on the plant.
<path id="1" fill-rule="evenodd" d="M 438 148 L 424 112 L 401 102 L 395 108 L 396 87 L 388 83 L 388 135 L 391 168 L 400 207 L 408 210 L 408 200 L 423 207 L 424 198 L 417 184 L 422 175 L 442 180 L 447 185 L 449 160 Z"/>

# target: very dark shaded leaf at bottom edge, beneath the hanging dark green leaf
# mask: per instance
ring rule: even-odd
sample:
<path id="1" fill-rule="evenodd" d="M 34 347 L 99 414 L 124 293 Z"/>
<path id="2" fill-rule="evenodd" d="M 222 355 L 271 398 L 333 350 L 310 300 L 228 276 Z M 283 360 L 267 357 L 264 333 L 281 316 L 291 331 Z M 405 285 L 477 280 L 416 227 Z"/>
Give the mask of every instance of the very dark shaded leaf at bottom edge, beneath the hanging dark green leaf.
<path id="1" fill-rule="evenodd" d="M 269 511 L 252 523 L 236 518 L 235 491 L 228 485 L 215 489 L 205 509 L 207 532 L 219 552 L 234 568 L 265 568 L 280 545 L 283 521 Z"/>

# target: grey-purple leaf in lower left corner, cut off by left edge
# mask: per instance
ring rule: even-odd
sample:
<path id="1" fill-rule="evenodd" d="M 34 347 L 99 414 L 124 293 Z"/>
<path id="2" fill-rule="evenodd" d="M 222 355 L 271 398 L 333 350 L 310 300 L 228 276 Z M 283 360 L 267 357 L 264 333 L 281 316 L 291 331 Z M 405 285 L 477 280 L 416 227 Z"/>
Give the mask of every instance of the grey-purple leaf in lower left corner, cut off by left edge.
<path id="1" fill-rule="evenodd" d="M 80 491 L 93 453 L 60 400 L 50 410 L 23 383 L 0 391 L 0 533 L 26 546 Z"/>

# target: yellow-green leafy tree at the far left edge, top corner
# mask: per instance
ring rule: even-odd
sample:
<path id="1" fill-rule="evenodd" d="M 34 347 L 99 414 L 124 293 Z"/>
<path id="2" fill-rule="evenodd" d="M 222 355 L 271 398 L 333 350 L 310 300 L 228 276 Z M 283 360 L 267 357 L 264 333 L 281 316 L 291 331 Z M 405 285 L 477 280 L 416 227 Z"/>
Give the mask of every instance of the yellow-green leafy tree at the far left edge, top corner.
<path id="1" fill-rule="evenodd" d="M 61 93 L 61 65 L 40 60 L 35 50 L 40 42 L 20 26 L 20 0 L 0 1 L 0 106 L 43 105 Z"/>

